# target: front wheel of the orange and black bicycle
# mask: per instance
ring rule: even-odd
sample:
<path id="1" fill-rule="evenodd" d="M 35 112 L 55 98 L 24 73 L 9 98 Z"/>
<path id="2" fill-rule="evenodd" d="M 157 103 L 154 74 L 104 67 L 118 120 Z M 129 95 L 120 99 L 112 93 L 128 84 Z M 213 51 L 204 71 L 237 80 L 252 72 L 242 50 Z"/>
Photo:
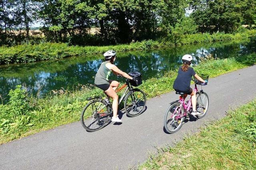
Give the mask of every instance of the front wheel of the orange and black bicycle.
<path id="1" fill-rule="evenodd" d="M 134 89 L 124 99 L 124 110 L 130 117 L 138 116 L 144 110 L 146 102 L 146 94 L 140 89 Z"/>

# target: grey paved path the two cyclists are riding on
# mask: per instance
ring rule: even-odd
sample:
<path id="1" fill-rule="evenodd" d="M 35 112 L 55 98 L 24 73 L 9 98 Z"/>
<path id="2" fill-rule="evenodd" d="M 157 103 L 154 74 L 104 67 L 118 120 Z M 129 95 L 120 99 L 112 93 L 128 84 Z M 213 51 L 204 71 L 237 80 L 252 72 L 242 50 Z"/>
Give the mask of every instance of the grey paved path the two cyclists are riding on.
<path id="1" fill-rule="evenodd" d="M 174 92 L 152 98 L 138 117 L 122 116 L 100 131 L 88 133 L 80 122 L 71 123 L 0 145 L 0 169 L 128 169 L 144 162 L 156 147 L 179 141 L 209 120 L 224 117 L 230 106 L 256 97 L 256 66 L 210 78 L 204 91 L 210 105 L 203 119 L 184 123 L 180 131 L 163 131 L 164 113 L 177 100 Z"/>

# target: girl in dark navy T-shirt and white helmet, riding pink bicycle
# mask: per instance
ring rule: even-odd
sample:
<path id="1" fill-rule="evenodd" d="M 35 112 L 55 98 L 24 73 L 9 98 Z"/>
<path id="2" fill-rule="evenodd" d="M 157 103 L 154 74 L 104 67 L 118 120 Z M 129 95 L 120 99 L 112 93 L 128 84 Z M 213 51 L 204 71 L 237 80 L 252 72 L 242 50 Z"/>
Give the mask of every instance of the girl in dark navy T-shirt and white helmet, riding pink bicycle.
<path id="1" fill-rule="evenodd" d="M 196 74 L 193 68 L 189 67 L 190 64 L 192 63 L 192 56 L 191 55 L 184 55 L 182 57 L 182 62 L 183 65 L 180 66 L 178 70 L 178 76 L 174 81 L 173 88 L 176 92 L 182 92 L 185 93 L 184 95 L 184 100 L 185 98 L 189 95 L 191 95 L 191 102 L 192 102 L 192 115 L 199 115 L 200 112 L 196 110 L 196 93 L 192 90 L 190 87 L 190 82 L 192 76 L 194 76 L 196 79 L 198 79 L 200 82 L 205 81 Z"/>

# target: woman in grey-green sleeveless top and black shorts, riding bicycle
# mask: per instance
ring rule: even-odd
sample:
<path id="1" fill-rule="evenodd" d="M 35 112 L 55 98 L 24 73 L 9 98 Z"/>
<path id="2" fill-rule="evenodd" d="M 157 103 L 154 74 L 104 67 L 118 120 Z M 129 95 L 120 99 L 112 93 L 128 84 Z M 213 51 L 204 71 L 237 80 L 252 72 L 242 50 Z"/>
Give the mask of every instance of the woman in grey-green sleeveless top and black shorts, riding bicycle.
<path id="1" fill-rule="evenodd" d="M 125 78 L 129 78 L 132 80 L 132 77 L 127 73 L 119 70 L 117 66 L 114 65 L 114 61 L 116 60 L 116 51 L 109 50 L 104 53 L 105 62 L 100 65 L 98 72 L 96 73 L 94 84 L 96 87 L 104 90 L 104 92 L 113 99 L 112 109 L 113 109 L 113 117 L 111 121 L 121 122 L 121 119 L 118 118 L 118 95 L 115 90 L 119 86 L 119 82 L 114 80 L 108 80 L 108 76 L 111 72 L 114 74 L 122 75 Z"/>

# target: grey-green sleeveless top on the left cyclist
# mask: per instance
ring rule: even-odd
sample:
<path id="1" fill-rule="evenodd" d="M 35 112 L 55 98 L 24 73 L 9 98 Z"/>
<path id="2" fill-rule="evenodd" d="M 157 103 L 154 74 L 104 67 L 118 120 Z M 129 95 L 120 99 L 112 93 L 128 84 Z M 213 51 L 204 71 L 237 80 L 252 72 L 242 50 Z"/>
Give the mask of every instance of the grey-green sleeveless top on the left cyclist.
<path id="1" fill-rule="evenodd" d="M 106 67 L 106 63 L 109 63 L 109 61 L 105 61 L 101 63 L 100 68 L 98 72 L 96 73 L 95 79 L 94 79 L 94 84 L 109 84 L 108 81 L 108 76 L 112 72 L 112 70 L 108 69 Z"/>

